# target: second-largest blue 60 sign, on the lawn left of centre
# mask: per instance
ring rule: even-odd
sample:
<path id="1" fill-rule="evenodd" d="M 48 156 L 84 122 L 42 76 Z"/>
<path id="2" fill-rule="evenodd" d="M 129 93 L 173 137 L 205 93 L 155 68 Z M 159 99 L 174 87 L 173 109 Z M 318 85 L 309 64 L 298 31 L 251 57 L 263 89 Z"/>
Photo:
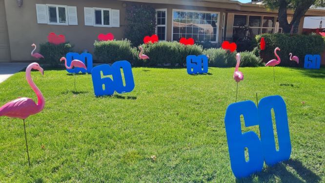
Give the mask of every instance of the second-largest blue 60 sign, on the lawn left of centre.
<path id="1" fill-rule="evenodd" d="M 123 84 L 121 69 L 123 70 L 125 85 Z M 109 77 L 102 78 L 101 72 L 103 76 L 111 75 L 113 80 Z M 114 91 L 118 93 L 131 92 L 135 86 L 131 63 L 128 61 L 117 61 L 112 66 L 109 64 L 96 66 L 91 71 L 91 76 L 97 97 L 113 95 Z"/>

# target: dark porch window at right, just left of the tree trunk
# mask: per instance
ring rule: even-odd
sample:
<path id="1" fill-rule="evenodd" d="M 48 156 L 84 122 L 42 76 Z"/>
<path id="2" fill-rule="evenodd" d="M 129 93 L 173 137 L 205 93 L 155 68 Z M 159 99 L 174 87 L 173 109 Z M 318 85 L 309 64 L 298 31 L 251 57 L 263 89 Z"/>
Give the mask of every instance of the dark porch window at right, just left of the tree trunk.
<path id="1" fill-rule="evenodd" d="M 235 15 L 233 41 L 237 41 L 244 36 L 254 38 L 259 34 L 274 33 L 275 20 L 276 17 L 274 16 Z M 282 32 L 282 30 L 279 30 L 279 32 Z"/>

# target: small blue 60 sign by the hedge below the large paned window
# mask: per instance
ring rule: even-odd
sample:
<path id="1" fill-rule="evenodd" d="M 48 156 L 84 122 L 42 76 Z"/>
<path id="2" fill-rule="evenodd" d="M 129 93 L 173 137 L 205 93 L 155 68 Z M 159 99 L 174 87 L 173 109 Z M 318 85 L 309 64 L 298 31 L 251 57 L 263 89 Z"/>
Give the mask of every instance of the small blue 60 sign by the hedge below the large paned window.
<path id="1" fill-rule="evenodd" d="M 189 55 L 186 57 L 188 74 L 203 74 L 208 72 L 208 59 L 206 55 Z"/>

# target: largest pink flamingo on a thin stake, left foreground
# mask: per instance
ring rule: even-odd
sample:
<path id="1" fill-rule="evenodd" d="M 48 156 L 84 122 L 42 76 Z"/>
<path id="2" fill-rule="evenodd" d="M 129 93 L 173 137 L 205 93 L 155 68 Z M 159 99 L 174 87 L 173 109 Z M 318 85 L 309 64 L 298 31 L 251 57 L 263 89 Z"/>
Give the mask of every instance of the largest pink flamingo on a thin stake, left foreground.
<path id="1" fill-rule="evenodd" d="M 44 70 L 38 63 L 31 63 L 26 68 L 26 80 L 33 91 L 36 93 L 38 102 L 37 104 L 29 98 L 18 98 L 14 101 L 8 102 L 0 107 L 0 116 L 7 116 L 9 118 L 19 118 L 23 120 L 24 123 L 24 131 L 25 131 L 25 142 L 26 142 L 26 150 L 28 157 L 28 164 L 30 167 L 29 153 L 28 153 L 28 145 L 27 145 L 27 137 L 26 137 L 26 127 L 25 127 L 25 119 L 30 115 L 37 114 L 41 112 L 45 106 L 44 97 L 40 91 L 40 89 L 33 82 L 31 77 L 31 70 L 36 69 L 44 75 Z"/>

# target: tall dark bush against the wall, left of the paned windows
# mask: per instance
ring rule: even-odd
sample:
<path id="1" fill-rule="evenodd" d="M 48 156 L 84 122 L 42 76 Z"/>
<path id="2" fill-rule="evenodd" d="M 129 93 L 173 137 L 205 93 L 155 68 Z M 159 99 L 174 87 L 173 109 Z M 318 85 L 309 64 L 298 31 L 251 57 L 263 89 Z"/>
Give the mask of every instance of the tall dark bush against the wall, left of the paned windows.
<path id="1" fill-rule="evenodd" d="M 126 10 L 125 38 L 134 46 L 143 43 L 144 36 L 156 32 L 156 10 L 149 5 L 132 5 Z"/>

